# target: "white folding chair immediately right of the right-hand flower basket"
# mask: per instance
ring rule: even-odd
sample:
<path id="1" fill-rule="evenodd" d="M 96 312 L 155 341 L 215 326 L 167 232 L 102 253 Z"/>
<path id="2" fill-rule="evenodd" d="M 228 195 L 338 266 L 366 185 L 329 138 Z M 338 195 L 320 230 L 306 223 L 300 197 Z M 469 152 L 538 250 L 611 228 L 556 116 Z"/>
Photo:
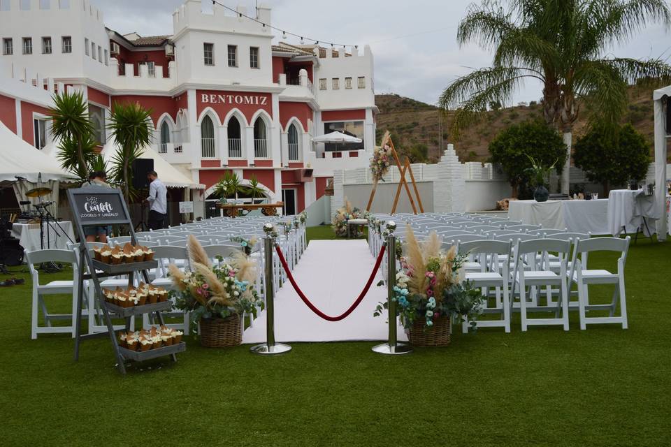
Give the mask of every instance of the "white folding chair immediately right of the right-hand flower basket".
<path id="1" fill-rule="evenodd" d="M 474 240 L 459 244 L 459 253 L 468 254 L 477 259 L 480 265 L 479 272 L 466 272 L 466 281 L 471 281 L 473 286 L 481 288 L 486 296 L 484 314 L 498 314 L 500 320 L 478 320 L 475 325 L 481 327 L 503 327 L 505 332 L 510 332 L 510 260 L 500 262 L 500 255 L 510 257 L 511 243 L 498 240 Z M 494 289 L 495 303 L 489 304 L 489 288 Z M 470 323 L 467 318 L 461 323 L 463 333 L 468 332 Z"/>

